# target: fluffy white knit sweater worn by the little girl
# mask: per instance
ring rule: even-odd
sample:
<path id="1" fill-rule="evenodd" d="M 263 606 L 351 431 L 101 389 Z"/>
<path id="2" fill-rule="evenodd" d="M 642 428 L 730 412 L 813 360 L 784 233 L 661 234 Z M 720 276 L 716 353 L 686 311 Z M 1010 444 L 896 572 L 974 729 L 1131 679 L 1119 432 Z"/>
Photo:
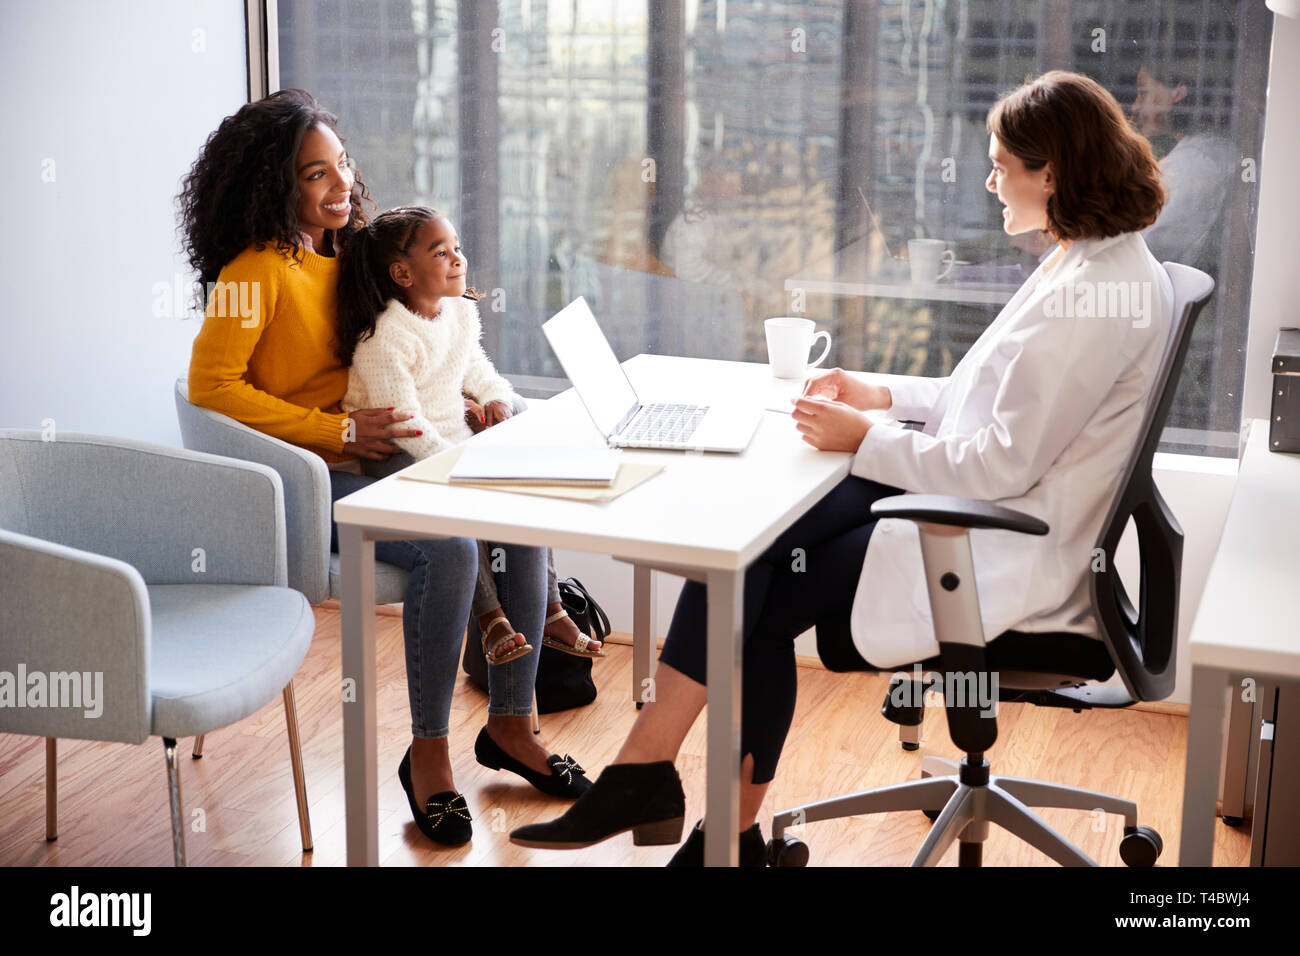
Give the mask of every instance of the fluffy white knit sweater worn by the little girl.
<path id="1" fill-rule="evenodd" d="M 473 432 L 462 392 L 480 405 L 512 405 L 515 392 L 484 354 L 473 299 L 445 298 L 436 319 L 413 315 L 389 299 L 374 334 L 356 346 L 347 373 L 343 411 L 387 408 L 415 412 L 403 423 L 422 436 L 395 438 L 416 459 L 428 458 Z"/>

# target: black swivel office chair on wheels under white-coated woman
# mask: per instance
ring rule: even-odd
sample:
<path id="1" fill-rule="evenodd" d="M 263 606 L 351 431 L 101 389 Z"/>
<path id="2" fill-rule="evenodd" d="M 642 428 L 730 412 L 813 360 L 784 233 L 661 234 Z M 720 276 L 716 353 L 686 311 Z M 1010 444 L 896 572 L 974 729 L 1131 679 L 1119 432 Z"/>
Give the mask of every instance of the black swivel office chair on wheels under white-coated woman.
<path id="1" fill-rule="evenodd" d="M 875 502 L 871 514 L 909 518 L 920 529 L 930 606 L 939 639 L 939 657 L 924 661 L 923 670 L 978 675 L 984 683 L 970 691 L 987 689 L 988 674 L 996 672 L 998 700 L 1070 708 L 1075 713 L 1162 700 L 1173 691 L 1183 531 L 1156 489 L 1150 463 L 1174 399 L 1192 326 L 1214 281 L 1186 265 L 1165 263 L 1165 268 L 1174 285 L 1174 324 L 1153 386 L 1158 401 L 1147 411 L 1140 441 L 1102 524 L 1097 548 L 1105 559 L 1091 576 L 1092 607 L 1104 644 L 1078 633 L 1018 631 L 1008 631 L 985 644 L 967 529 L 1006 528 L 1045 535 L 1048 525 L 1031 515 L 987 502 L 902 494 Z M 1130 518 L 1136 525 L 1141 553 L 1136 611 L 1115 570 L 1115 549 Z M 852 648 L 848 627 L 848 618 L 818 622 L 818 650 L 831 670 L 864 670 L 861 658 L 849 653 L 854 658 L 849 661 L 844 650 L 833 650 Z M 1084 683 L 1108 680 L 1117 669 L 1123 688 Z M 788 826 L 890 810 L 924 810 L 935 823 L 913 866 L 936 865 L 953 840 L 958 840 L 958 865 L 979 866 L 989 823 L 1015 834 L 1057 862 L 1095 866 L 1087 855 L 1030 809 L 1057 806 L 1122 814 L 1121 857 L 1130 866 L 1154 865 L 1162 849 L 1160 834 L 1138 825 L 1138 806 L 1131 800 L 1078 787 L 991 775 L 984 753 L 997 739 L 997 721 L 982 717 L 982 706 L 987 709 L 987 705 L 980 704 L 979 693 L 962 692 L 966 689 L 958 685 L 944 702 L 949 735 L 966 752 L 961 763 L 924 757 L 920 780 L 822 800 L 776 814 L 768 862 L 776 866 L 807 862 L 807 847 L 785 835 Z M 894 678 L 883 709 L 885 717 L 919 727 L 924 691 L 924 679 Z"/>

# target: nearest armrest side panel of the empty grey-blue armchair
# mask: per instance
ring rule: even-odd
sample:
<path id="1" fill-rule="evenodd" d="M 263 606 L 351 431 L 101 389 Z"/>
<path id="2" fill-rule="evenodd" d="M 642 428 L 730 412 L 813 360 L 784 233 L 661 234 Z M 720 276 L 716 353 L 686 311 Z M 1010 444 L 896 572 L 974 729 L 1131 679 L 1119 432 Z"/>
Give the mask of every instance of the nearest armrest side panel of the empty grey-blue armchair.
<path id="1" fill-rule="evenodd" d="M 0 529 L 0 633 L 22 698 L 0 706 L 0 732 L 148 737 L 150 597 L 134 567 Z"/>

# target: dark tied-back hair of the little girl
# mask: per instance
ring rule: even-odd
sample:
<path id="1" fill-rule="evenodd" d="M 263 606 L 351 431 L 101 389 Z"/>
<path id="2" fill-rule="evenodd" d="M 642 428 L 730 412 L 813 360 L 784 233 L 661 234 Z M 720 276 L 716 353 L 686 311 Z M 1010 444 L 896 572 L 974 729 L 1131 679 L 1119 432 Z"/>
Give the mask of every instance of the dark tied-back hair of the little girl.
<path id="1" fill-rule="evenodd" d="M 344 365 L 352 364 L 358 343 L 374 334 L 389 299 L 404 302 L 389 265 L 411 255 L 420 225 L 437 219 L 447 215 L 428 206 L 399 206 L 352 233 L 338 277 L 338 359 Z M 465 289 L 462 298 L 477 302 L 482 294 Z"/>

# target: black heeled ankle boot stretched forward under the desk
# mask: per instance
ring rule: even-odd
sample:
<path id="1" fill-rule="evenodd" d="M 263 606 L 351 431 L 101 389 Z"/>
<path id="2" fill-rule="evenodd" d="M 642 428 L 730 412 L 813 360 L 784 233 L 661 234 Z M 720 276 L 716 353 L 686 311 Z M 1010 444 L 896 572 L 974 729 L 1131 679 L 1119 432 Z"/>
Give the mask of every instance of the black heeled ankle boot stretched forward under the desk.
<path id="1" fill-rule="evenodd" d="M 681 840 L 686 796 L 672 761 L 611 763 L 592 790 L 550 823 L 521 826 L 510 835 L 519 847 L 580 849 L 632 831 L 638 847 Z"/>

